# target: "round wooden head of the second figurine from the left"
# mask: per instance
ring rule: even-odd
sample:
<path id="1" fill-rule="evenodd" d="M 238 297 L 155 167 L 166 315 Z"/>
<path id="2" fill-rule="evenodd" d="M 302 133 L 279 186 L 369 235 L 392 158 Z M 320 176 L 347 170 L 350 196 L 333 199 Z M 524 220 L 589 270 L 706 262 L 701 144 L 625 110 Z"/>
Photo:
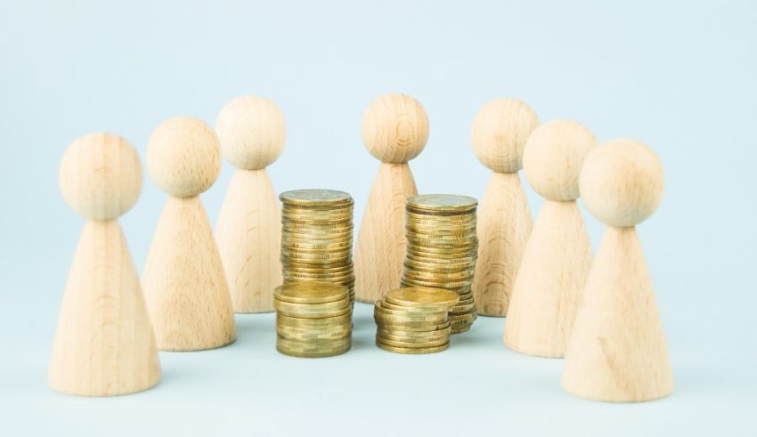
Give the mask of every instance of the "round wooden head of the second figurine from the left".
<path id="1" fill-rule="evenodd" d="M 160 190 L 191 198 L 208 190 L 221 172 L 218 138 L 198 118 L 169 118 L 147 143 L 147 170 Z"/>

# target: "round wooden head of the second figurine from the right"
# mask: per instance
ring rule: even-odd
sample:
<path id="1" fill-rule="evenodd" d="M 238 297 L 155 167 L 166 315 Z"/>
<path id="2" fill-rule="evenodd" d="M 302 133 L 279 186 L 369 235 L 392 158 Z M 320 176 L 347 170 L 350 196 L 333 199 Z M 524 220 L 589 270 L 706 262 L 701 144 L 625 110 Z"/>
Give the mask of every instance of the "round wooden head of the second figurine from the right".
<path id="1" fill-rule="evenodd" d="M 585 126 L 555 120 L 533 130 L 525 142 L 523 170 L 533 190 L 550 200 L 579 197 L 578 178 L 597 138 Z"/>

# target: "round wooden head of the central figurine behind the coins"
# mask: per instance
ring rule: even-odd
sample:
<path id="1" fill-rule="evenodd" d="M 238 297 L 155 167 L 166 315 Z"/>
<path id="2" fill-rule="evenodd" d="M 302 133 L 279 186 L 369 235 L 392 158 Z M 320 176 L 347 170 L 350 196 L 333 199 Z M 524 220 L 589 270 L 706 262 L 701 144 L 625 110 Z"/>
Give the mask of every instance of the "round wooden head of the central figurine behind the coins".
<path id="1" fill-rule="evenodd" d="M 362 116 L 362 142 L 382 162 L 403 163 L 426 147 L 426 109 L 409 95 L 384 94 Z"/>

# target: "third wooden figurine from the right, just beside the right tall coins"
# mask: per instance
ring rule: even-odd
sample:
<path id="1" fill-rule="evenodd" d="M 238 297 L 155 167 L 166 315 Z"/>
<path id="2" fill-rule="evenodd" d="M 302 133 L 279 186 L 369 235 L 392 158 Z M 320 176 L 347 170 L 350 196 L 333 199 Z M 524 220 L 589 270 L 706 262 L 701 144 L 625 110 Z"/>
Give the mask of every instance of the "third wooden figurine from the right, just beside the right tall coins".
<path id="1" fill-rule="evenodd" d="M 476 158 L 492 170 L 478 208 L 478 261 L 473 296 L 478 313 L 502 317 L 531 233 L 531 210 L 517 174 L 528 135 L 539 117 L 523 101 L 500 99 L 481 109 L 473 122 Z"/>

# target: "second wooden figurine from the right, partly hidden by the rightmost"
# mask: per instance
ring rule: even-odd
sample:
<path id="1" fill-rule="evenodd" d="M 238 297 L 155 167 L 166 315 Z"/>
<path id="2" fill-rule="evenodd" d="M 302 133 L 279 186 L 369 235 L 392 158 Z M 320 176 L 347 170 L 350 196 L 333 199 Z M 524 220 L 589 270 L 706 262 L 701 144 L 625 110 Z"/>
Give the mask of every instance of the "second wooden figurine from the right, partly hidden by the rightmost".
<path id="1" fill-rule="evenodd" d="M 517 352 L 563 357 L 591 264 L 575 199 L 583 159 L 597 145 L 589 129 L 556 120 L 525 143 L 525 179 L 544 200 L 510 298 L 504 342 Z"/>

